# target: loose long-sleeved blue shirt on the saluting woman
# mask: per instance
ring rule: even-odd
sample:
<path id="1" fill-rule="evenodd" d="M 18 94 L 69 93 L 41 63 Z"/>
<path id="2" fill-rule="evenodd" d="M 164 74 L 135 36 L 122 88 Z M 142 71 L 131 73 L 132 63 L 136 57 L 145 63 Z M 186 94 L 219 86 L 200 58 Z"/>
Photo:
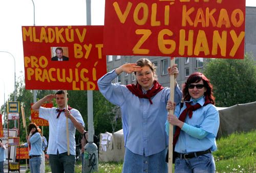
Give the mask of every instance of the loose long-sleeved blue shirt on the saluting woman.
<path id="1" fill-rule="evenodd" d="M 98 80 L 102 95 L 111 103 L 121 107 L 124 145 L 131 152 L 150 156 L 164 150 L 168 144 L 164 123 L 167 118 L 166 103 L 169 88 L 164 88 L 154 97 L 153 104 L 148 99 L 135 96 L 125 85 L 111 83 L 117 77 L 115 70 Z M 179 103 L 182 93 L 175 90 L 175 102 Z"/>

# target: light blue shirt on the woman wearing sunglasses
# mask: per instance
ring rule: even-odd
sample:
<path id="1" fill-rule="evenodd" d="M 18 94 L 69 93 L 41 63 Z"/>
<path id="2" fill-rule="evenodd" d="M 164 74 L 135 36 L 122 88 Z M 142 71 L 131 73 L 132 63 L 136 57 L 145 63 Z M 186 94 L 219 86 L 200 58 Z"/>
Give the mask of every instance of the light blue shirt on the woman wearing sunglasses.
<path id="1" fill-rule="evenodd" d="M 180 104 L 178 104 L 175 108 L 174 115 L 178 115 L 178 118 L 186 109 L 185 102 L 181 109 Z M 192 102 L 192 105 L 199 103 L 202 105 L 202 107 L 196 111 L 193 111 L 191 118 L 186 116 L 184 125 L 181 128 L 181 132 L 175 146 L 175 152 L 191 153 L 204 151 L 209 148 L 212 152 L 214 152 L 217 150 L 216 137 L 220 125 L 219 112 L 213 104 L 203 106 L 205 102 L 204 97 L 198 99 L 197 102 L 193 102 L 193 99 L 190 99 L 189 102 Z M 166 122 L 165 125 L 167 131 L 169 123 Z M 174 129 L 175 127 L 176 126 L 174 126 Z M 196 127 L 197 129 L 193 129 L 193 127 Z M 194 132 L 197 131 L 197 134 L 190 132 L 188 129 L 191 129 Z"/>

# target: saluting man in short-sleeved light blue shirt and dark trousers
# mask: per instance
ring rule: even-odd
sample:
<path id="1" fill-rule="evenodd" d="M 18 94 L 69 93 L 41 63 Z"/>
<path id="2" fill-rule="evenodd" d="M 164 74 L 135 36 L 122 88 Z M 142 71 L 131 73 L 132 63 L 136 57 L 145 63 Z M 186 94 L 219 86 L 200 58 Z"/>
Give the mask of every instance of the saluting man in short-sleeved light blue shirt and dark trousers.
<path id="1" fill-rule="evenodd" d="M 46 108 L 41 105 L 45 102 L 56 99 L 58 107 Z M 32 109 L 39 113 L 39 117 L 49 122 L 49 144 L 47 154 L 53 173 L 74 172 L 75 170 L 75 131 L 84 131 L 84 122 L 80 112 L 72 107 L 65 109 L 65 92 L 58 90 L 55 94 L 50 94 L 41 98 L 32 105 Z M 66 125 L 68 118 L 68 127 Z M 69 129 L 70 155 L 68 155 L 67 128 Z"/>

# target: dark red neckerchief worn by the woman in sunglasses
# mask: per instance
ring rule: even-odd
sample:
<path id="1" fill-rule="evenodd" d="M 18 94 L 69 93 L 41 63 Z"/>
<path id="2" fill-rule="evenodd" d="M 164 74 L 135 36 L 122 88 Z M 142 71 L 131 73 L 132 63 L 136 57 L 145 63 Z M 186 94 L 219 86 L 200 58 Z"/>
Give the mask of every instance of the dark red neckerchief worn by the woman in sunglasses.
<path id="1" fill-rule="evenodd" d="M 188 117 L 191 118 L 192 114 L 193 114 L 193 111 L 196 111 L 197 109 L 202 107 L 201 104 L 199 104 L 199 103 L 197 103 L 195 105 L 191 105 L 190 102 L 185 102 L 185 103 L 186 103 L 186 109 L 181 113 L 181 115 L 179 117 L 179 120 L 181 120 L 182 122 L 185 121 L 187 113 L 188 113 Z M 207 105 L 209 103 L 212 103 L 212 102 L 208 99 L 208 96 L 205 96 L 205 102 L 204 102 L 203 106 L 205 106 L 205 105 Z M 181 128 L 177 126 L 175 134 L 174 134 L 174 141 L 173 141 L 173 146 L 174 147 L 175 147 L 175 145 L 176 145 L 176 143 L 178 141 L 178 138 L 179 138 L 179 135 L 180 135 L 180 131 L 181 131 Z"/>

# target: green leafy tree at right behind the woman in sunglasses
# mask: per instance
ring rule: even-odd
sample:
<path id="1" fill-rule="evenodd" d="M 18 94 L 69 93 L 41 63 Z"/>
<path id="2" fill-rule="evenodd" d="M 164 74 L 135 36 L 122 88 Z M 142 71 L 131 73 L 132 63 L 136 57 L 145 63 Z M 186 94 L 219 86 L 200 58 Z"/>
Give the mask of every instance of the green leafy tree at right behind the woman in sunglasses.
<path id="1" fill-rule="evenodd" d="M 221 107 L 256 101 L 256 62 L 244 59 L 211 59 L 203 73 L 214 85 L 216 105 Z"/>

